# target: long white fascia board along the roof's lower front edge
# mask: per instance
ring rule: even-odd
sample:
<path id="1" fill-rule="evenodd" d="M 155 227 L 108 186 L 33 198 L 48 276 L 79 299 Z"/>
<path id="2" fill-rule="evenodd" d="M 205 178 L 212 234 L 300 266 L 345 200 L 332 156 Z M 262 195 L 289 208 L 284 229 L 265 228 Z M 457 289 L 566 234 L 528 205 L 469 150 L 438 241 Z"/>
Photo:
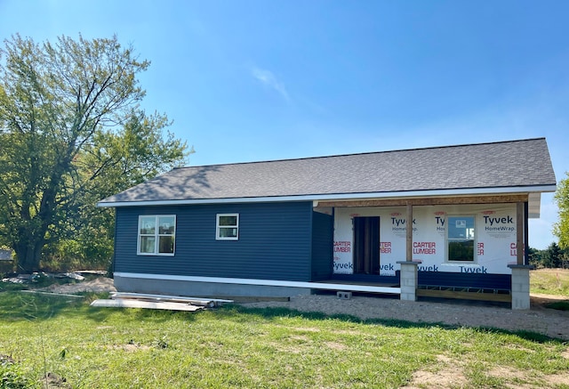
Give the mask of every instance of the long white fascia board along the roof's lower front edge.
<path id="1" fill-rule="evenodd" d="M 555 185 L 519 186 L 503 188 L 473 188 L 454 190 L 410 190 L 374 193 L 337 193 L 299 196 L 271 196 L 258 198 L 228 198 L 228 199 L 180 199 L 180 200 L 148 200 L 148 201 L 116 201 L 97 203 L 97 207 L 154 207 L 180 206 L 193 204 L 239 204 L 239 203 L 271 203 L 284 201 L 326 201 L 349 199 L 407 199 L 429 198 L 437 196 L 491 195 L 501 193 L 527 193 L 555 191 Z"/>

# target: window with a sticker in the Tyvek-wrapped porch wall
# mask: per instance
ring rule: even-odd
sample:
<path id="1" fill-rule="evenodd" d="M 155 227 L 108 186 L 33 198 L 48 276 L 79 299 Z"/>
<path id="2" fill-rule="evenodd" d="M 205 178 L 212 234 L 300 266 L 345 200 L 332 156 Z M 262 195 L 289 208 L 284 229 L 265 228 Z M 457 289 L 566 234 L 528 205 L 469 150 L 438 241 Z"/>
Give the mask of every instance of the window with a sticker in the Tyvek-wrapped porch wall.
<path id="1" fill-rule="evenodd" d="M 448 216 L 447 255 L 451 262 L 474 262 L 474 216 Z"/>

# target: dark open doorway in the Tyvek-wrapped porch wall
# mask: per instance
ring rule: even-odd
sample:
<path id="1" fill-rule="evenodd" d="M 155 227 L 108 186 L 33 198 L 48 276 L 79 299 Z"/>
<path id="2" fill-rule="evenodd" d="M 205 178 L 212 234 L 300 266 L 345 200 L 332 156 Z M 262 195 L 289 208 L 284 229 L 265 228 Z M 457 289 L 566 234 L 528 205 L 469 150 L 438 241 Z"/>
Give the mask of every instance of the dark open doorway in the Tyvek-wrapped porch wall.
<path id="1" fill-rule="evenodd" d="M 380 217 L 354 217 L 354 272 L 380 273 Z"/>

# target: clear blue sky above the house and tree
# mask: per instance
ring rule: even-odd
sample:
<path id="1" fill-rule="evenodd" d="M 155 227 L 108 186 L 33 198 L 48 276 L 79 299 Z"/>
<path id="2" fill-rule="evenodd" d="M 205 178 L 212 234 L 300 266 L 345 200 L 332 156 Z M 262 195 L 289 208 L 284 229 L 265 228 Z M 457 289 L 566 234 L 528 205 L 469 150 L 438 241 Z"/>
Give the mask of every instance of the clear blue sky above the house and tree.
<path id="1" fill-rule="evenodd" d="M 544 136 L 559 181 L 568 18 L 565 0 L 0 0 L 0 38 L 132 44 L 190 165 Z M 544 195 L 531 247 L 556 220 Z"/>

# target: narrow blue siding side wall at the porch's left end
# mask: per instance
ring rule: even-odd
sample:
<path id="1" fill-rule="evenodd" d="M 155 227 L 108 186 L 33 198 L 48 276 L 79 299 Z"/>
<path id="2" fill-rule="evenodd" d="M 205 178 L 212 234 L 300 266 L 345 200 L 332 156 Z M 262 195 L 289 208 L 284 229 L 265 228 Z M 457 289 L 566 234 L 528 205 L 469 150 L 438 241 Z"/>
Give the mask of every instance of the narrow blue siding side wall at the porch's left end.
<path id="1" fill-rule="evenodd" d="M 332 276 L 333 216 L 312 214 L 312 280 L 328 280 Z"/>

